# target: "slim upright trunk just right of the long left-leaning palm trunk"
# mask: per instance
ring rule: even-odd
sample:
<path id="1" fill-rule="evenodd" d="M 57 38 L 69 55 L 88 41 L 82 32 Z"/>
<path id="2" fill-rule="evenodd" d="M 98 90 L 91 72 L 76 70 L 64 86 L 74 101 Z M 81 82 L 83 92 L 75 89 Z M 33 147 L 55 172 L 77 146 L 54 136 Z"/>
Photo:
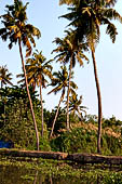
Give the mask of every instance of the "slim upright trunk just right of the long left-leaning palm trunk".
<path id="1" fill-rule="evenodd" d="M 42 84 L 40 82 L 40 102 L 41 102 L 41 136 L 43 137 L 43 101 L 42 101 Z"/>

